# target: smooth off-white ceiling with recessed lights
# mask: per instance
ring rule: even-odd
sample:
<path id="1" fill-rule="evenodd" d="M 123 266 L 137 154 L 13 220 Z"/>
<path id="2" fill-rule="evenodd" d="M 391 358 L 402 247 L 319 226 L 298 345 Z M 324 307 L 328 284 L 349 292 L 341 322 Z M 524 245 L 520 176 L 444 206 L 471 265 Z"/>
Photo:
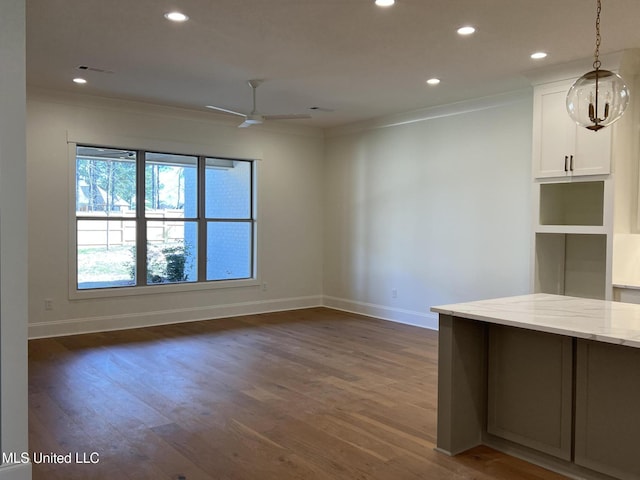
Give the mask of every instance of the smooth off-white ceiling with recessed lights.
<path id="1" fill-rule="evenodd" d="M 534 69 L 585 59 L 595 0 L 27 0 L 29 85 L 338 126 L 527 88 Z M 180 10 L 183 24 L 163 15 Z M 460 37 L 464 24 L 475 35 Z M 603 0 L 603 54 L 640 48 L 640 0 Z M 529 55 L 543 50 L 544 60 Z M 80 65 L 106 72 L 77 70 Z M 603 65 L 606 68 L 607 65 Z M 89 83 L 71 79 L 84 76 Z M 429 87 L 425 80 L 439 77 Z M 310 107 L 332 110 L 310 111 Z M 240 119 L 242 120 L 242 119 Z"/>

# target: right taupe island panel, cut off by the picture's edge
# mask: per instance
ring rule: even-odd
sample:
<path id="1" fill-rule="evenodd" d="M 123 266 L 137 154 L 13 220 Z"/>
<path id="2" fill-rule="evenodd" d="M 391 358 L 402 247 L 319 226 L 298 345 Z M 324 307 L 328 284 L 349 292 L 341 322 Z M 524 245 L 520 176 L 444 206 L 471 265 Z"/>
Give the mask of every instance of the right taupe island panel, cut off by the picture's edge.
<path id="1" fill-rule="evenodd" d="M 578 340 L 575 463 L 640 478 L 640 349 Z"/>

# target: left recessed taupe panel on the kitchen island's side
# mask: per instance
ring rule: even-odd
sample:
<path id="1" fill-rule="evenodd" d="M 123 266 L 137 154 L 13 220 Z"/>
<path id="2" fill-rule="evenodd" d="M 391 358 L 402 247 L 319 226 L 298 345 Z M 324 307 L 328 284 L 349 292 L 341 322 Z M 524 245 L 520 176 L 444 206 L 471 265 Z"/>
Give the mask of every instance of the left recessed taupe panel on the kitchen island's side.
<path id="1" fill-rule="evenodd" d="M 487 432 L 571 459 L 572 341 L 489 327 Z"/>

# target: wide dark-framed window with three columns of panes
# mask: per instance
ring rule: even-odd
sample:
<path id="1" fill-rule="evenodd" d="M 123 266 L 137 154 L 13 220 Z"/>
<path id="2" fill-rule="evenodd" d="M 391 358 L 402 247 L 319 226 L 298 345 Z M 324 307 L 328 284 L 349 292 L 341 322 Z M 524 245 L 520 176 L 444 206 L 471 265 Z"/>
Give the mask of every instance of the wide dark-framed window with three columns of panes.
<path id="1" fill-rule="evenodd" d="M 76 147 L 77 289 L 254 277 L 254 162 Z"/>

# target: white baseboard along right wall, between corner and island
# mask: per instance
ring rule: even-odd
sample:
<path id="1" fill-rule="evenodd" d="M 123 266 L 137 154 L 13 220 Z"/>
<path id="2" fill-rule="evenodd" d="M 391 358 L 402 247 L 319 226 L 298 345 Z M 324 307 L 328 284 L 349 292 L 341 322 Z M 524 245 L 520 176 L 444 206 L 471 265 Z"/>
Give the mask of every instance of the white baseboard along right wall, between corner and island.
<path id="1" fill-rule="evenodd" d="M 406 325 L 414 325 L 430 330 L 438 329 L 438 315 L 431 312 L 416 312 L 329 296 L 325 296 L 322 303 L 325 307 L 336 310 L 380 318 L 391 322 L 404 323 Z"/>

